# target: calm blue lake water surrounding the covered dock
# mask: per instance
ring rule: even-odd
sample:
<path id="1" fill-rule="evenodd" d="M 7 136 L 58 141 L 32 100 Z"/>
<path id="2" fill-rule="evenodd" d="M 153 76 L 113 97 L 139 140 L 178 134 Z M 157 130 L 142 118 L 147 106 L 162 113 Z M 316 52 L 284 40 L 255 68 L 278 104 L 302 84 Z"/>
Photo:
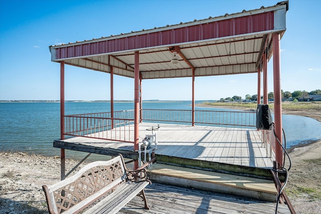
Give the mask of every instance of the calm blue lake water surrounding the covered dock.
<path id="1" fill-rule="evenodd" d="M 197 102 L 196 102 L 197 103 Z M 190 101 L 144 102 L 145 109 L 191 109 Z M 116 102 L 114 110 L 133 109 L 132 102 Z M 200 108 L 203 110 L 224 110 Z M 67 102 L 66 115 L 108 112 L 110 103 Z M 53 147 L 53 140 L 60 138 L 60 104 L 46 102 L 0 103 L 0 151 L 23 151 L 48 156 L 60 155 L 60 149 Z M 321 139 L 321 123 L 295 115 L 283 115 L 283 128 L 287 147 L 298 143 Z M 81 158 L 85 153 L 66 151 L 68 157 Z"/>

